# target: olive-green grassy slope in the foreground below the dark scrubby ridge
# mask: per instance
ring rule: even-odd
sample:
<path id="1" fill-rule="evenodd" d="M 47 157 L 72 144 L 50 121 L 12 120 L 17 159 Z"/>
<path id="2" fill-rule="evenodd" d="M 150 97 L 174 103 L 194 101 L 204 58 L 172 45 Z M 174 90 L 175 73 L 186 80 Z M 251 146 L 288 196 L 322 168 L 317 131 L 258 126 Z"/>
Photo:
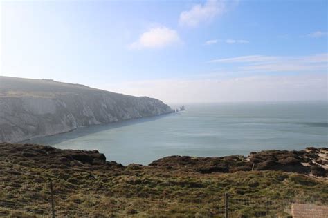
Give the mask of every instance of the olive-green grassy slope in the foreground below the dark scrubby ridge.
<path id="1" fill-rule="evenodd" d="M 224 193 L 235 215 L 284 214 L 286 201 L 328 204 L 325 179 L 289 172 L 201 174 L 151 166 L 44 166 L 19 154 L 0 155 L 0 216 L 48 215 L 53 180 L 57 215 L 221 216 Z M 242 206 L 259 199 L 271 200 Z M 239 204 L 237 203 L 239 199 Z M 248 202 L 249 203 L 249 202 Z M 288 212 L 288 211 L 287 211 Z"/>

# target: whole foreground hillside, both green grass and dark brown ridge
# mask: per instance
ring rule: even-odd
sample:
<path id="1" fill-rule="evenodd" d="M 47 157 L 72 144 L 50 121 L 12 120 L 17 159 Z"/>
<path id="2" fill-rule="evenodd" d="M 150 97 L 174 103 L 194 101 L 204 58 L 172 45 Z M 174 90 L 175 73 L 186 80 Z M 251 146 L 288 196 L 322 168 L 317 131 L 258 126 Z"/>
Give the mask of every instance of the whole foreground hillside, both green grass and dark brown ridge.
<path id="1" fill-rule="evenodd" d="M 172 156 L 122 166 L 98 151 L 3 143 L 0 216 L 50 215 L 50 181 L 60 217 L 223 217 L 225 193 L 230 217 L 286 216 L 291 202 L 328 204 L 327 151 Z"/>

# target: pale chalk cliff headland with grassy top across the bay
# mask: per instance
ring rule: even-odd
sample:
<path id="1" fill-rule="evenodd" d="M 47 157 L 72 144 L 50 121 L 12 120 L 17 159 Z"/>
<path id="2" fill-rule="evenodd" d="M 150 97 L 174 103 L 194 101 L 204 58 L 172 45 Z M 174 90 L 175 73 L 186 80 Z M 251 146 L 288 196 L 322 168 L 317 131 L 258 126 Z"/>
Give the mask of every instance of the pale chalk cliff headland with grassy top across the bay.
<path id="1" fill-rule="evenodd" d="M 45 79 L 0 77 L 0 142 L 169 112 L 169 106 L 149 97 Z"/>

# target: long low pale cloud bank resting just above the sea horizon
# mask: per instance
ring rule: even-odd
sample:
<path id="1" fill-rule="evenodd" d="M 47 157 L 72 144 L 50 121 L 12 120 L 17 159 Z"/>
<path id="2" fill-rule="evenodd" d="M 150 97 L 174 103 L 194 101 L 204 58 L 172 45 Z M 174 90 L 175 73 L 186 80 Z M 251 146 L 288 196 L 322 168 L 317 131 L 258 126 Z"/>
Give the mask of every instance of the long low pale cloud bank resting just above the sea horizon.
<path id="1" fill-rule="evenodd" d="M 327 99 L 327 77 L 322 74 L 130 81 L 101 88 L 165 103 Z"/>

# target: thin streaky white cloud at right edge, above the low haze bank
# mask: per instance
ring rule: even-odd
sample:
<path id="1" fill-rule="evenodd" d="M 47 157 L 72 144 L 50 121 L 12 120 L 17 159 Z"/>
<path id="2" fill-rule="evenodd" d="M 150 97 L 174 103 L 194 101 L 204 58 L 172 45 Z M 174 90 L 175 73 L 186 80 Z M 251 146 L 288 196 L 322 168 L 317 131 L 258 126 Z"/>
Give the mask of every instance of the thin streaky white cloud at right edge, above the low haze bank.
<path id="1" fill-rule="evenodd" d="M 237 64 L 237 69 L 248 72 L 325 72 L 327 70 L 328 53 L 305 57 L 248 55 L 215 59 L 209 62 L 235 63 Z"/>

